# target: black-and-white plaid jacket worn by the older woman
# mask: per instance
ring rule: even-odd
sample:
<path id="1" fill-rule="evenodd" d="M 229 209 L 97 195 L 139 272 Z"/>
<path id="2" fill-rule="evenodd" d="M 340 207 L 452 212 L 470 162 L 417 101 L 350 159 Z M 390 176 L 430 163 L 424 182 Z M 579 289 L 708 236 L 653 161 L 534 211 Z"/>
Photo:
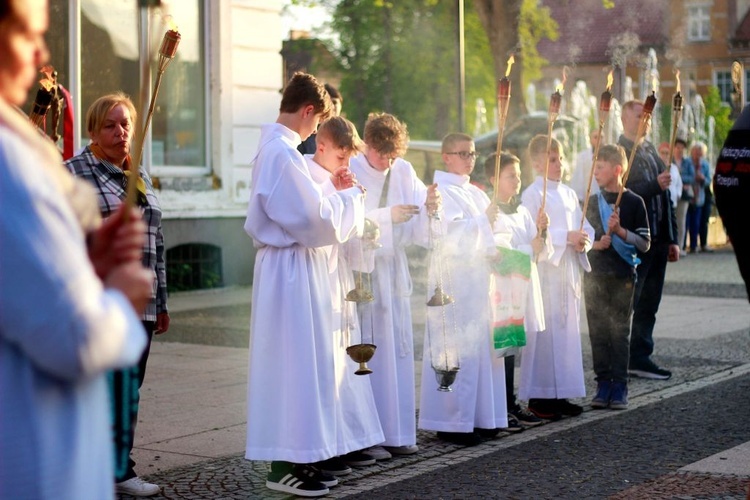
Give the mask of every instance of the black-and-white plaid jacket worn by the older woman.
<path id="1" fill-rule="evenodd" d="M 65 162 L 73 175 L 85 179 L 96 190 L 102 217 L 116 212 L 126 195 L 127 178 L 112 163 L 99 160 L 88 146 L 78 156 Z M 156 198 L 151 178 L 143 170 L 146 182 L 146 204 L 141 204 L 143 221 L 147 225 L 146 245 L 143 247 L 143 265 L 156 274 L 151 301 L 143 313 L 144 321 L 156 321 L 156 315 L 167 312 L 167 271 L 164 265 L 164 235 L 161 230 L 161 207 Z"/>

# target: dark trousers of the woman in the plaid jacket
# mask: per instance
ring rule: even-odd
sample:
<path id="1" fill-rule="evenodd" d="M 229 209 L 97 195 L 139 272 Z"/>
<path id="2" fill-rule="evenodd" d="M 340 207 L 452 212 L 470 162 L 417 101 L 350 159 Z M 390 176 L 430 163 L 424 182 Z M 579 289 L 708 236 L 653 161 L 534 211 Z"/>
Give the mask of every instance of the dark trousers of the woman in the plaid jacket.
<path id="1" fill-rule="evenodd" d="M 115 482 L 120 483 L 137 476 L 135 461 L 130 457 L 135 439 L 135 424 L 138 421 L 140 388 L 146 376 L 146 363 L 151 350 L 151 337 L 156 328 L 155 321 L 144 321 L 148 344 L 136 366 L 110 373 L 112 394 L 112 438 L 115 445 Z"/>

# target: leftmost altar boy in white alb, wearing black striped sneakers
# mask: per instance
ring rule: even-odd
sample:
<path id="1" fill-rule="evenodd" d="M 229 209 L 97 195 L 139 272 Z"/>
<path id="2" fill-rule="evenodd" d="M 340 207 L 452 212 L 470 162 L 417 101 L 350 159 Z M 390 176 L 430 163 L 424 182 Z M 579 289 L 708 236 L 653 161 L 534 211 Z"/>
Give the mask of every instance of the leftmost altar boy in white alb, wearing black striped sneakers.
<path id="1" fill-rule="evenodd" d="M 338 483 L 312 465 L 336 455 L 331 287 L 324 247 L 346 240 L 363 208 L 347 169 L 325 196 L 296 147 L 331 113 L 323 85 L 295 73 L 276 123 L 261 129 L 245 231 L 258 249 L 248 373 L 250 460 L 271 460 L 266 486 L 322 496 Z"/>

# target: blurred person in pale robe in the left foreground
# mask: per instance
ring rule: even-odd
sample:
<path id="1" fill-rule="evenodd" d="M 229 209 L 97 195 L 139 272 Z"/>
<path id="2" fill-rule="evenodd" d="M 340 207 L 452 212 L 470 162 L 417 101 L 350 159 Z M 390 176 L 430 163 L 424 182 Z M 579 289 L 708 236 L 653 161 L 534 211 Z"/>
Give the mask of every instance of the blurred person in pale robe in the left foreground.
<path id="1" fill-rule="evenodd" d="M 93 190 L 18 107 L 47 57 L 46 0 L 0 1 L 0 498 L 112 499 L 106 373 L 138 362 L 145 224 Z"/>

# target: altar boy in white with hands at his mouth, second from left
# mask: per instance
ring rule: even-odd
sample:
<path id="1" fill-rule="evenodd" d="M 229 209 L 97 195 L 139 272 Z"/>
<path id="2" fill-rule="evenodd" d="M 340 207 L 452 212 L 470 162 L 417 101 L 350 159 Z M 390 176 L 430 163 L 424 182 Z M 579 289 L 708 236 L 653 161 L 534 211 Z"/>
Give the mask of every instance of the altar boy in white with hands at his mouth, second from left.
<path id="1" fill-rule="evenodd" d="M 316 134 L 314 155 L 305 155 L 307 167 L 313 180 L 320 184 L 323 194 L 336 192 L 334 177 L 340 167 L 348 167 L 349 159 L 362 149 L 363 143 L 354 125 L 340 116 L 323 122 Z M 362 236 L 364 204 L 357 213 L 347 213 L 341 221 L 341 234 Z M 356 375 L 358 368 L 346 353 L 346 348 L 362 340 L 357 321 L 355 302 L 347 301 L 346 294 L 355 287 L 352 270 L 346 256 L 346 247 L 334 244 L 324 247 L 328 253 L 328 271 L 333 303 L 333 352 L 336 367 L 336 426 L 337 457 L 319 462 L 316 466 L 323 472 L 343 475 L 351 472 L 349 466 L 373 465 L 375 458 L 361 450 L 383 442 L 375 399 L 372 395 L 370 377 Z M 354 256 L 355 258 L 357 256 Z"/>

